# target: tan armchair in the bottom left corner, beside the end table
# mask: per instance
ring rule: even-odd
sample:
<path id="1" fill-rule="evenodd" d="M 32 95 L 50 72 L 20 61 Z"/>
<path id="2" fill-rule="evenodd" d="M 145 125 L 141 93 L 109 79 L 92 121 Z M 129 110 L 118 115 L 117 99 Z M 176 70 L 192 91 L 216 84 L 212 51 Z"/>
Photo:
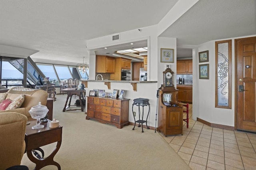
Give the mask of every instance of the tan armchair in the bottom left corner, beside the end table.
<path id="1" fill-rule="evenodd" d="M 20 165 L 25 152 L 27 117 L 20 113 L 0 113 L 0 169 Z"/>

